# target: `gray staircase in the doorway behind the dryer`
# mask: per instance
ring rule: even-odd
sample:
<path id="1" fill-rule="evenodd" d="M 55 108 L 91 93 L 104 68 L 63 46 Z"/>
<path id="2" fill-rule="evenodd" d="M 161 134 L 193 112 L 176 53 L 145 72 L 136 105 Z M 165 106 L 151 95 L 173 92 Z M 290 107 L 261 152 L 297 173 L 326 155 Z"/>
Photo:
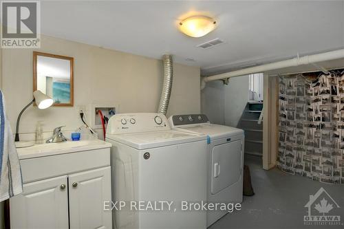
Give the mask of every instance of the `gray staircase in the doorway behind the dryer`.
<path id="1" fill-rule="evenodd" d="M 258 123 L 262 109 L 263 102 L 248 102 L 237 125 L 245 131 L 246 154 L 263 155 L 263 121 Z"/>

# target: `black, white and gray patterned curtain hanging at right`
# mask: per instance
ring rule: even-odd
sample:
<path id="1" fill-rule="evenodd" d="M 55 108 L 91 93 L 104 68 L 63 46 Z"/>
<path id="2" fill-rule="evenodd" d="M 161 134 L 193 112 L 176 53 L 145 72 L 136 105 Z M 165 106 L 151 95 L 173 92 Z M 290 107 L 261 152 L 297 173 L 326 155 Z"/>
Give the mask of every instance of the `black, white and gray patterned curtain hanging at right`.
<path id="1" fill-rule="evenodd" d="M 319 182 L 344 184 L 344 72 L 279 79 L 277 167 Z"/>

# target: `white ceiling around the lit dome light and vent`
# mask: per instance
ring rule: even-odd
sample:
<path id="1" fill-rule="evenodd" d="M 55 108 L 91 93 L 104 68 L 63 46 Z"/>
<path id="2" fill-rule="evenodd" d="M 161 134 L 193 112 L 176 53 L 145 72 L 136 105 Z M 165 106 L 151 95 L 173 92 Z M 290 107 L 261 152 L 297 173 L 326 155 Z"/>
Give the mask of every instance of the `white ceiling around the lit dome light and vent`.
<path id="1" fill-rule="evenodd" d="M 180 19 L 198 14 L 217 29 L 180 33 Z M 41 32 L 152 58 L 170 53 L 209 75 L 343 48 L 344 1 L 42 1 Z M 196 47 L 215 38 L 225 43 Z"/>

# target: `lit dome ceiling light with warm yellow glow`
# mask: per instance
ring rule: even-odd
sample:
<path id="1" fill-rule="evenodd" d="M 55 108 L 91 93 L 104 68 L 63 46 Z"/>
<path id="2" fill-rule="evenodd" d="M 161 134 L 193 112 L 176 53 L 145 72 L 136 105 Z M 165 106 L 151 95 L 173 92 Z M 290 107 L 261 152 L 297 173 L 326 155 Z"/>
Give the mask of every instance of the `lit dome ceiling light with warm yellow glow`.
<path id="1" fill-rule="evenodd" d="M 192 37 L 201 37 L 213 31 L 216 21 L 206 16 L 188 17 L 179 23 L 180 31 Z"/>

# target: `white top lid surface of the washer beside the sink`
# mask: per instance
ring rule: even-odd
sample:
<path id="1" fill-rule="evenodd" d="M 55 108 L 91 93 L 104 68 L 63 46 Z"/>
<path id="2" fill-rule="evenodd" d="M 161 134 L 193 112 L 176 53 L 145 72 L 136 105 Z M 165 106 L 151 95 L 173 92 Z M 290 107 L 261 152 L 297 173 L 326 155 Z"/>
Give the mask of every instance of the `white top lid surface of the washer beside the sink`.
<path id="1" fill-rule="evenodd" d="M 186 133 L 181 131 L 150 131 L 141 133 L 126 133 L 107 135 L 107 138 L 126 144 L 135 149 L 150 149 L 160 146 L 169 146 L 186 142 L 206 140 L 206 135 Z"/>

